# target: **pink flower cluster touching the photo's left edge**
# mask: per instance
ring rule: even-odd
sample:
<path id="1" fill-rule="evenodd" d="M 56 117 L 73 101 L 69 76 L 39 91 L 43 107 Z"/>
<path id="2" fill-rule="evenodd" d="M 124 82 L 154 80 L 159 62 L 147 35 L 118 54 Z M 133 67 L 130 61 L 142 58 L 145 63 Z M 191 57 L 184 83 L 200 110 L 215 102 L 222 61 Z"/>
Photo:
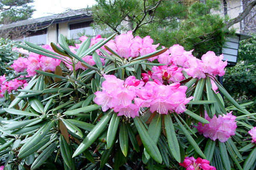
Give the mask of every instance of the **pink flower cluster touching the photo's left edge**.
<path id="1" fill-rule="evenodd" d="M 20 77 L 23 78 L 23 77 Z M 3 97 L 3 94 L 7 91 L 11 93 L 13 90 L 17 90 L 19 87 L 23 86 L 26 87 L 27 82 L 25 79 L 12 79 L 9 82 L 6 81 L 5 75 L 0 76 L 0 97 Z"/>

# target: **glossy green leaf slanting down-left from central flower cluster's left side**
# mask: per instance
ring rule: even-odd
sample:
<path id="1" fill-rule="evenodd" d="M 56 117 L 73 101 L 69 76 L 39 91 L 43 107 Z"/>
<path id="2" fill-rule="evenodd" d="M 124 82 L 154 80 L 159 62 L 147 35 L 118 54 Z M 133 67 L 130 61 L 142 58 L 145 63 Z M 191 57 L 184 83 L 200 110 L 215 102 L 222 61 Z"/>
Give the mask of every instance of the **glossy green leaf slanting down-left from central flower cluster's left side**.
<path id="1" fill-rule="evenodd" d="M 93 129 L 88 133 L 88 135 L 84 138 L 83 142 L 76 149 L 73 157 L 78 156 L 80 153 L 84 152 L 91 144 L 99 137 L 99 135 L 104 130 L 105 126 L 108 124 L 111 119 L 113 110 L 109 111 L 102 119 L 93 127 Z"/>

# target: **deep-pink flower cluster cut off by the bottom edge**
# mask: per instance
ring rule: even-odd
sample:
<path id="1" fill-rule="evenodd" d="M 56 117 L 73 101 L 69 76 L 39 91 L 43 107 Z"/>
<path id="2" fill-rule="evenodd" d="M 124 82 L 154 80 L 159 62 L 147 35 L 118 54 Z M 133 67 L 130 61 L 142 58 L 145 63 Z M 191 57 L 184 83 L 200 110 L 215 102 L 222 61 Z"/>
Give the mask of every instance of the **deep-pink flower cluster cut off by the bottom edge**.
<path id="1" fill-rule="evenodd" d="M 210 162 L 206 159 L 197 158 L 193 156 L 186 157 L 183 163 L 179 163 L 180 166 L 185 167 L 186 170 L 216 170 L 215 167 L 209 165 Z"/>

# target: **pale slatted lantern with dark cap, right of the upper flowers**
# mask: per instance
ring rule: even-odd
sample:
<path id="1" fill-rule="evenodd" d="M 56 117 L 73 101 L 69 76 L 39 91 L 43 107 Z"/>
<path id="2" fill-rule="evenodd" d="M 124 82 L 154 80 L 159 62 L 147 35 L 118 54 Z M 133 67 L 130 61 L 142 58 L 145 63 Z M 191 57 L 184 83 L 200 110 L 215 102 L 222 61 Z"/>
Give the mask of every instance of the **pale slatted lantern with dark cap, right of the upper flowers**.
<path id="1" fill-rule="evenodd" d="M 227 42 L 224 45 L 224 48 L 221 49 L 221 54 L 224 55 L 223 61 L 227 61 L 227 66 L 232 67 L 236 65 L 239 41 L 251 38 L 252 36 L 245 34 L 236 34 L 234 36 L 227 37 Z"/>

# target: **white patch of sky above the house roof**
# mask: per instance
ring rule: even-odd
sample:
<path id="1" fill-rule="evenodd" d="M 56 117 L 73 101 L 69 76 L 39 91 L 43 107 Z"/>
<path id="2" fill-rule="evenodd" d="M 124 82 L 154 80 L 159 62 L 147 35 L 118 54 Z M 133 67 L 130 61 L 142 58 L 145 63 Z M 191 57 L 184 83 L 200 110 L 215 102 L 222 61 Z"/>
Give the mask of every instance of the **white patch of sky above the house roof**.
<path id="1" fill-rule="evenodd" d="M 32 18 L 45 17 L 52 14 L 59 14 L 67 9 L 81 9 L 92 6 L 94 0 L 34 0 L 30 3 L 35 6 L 36 11 Z"/>

